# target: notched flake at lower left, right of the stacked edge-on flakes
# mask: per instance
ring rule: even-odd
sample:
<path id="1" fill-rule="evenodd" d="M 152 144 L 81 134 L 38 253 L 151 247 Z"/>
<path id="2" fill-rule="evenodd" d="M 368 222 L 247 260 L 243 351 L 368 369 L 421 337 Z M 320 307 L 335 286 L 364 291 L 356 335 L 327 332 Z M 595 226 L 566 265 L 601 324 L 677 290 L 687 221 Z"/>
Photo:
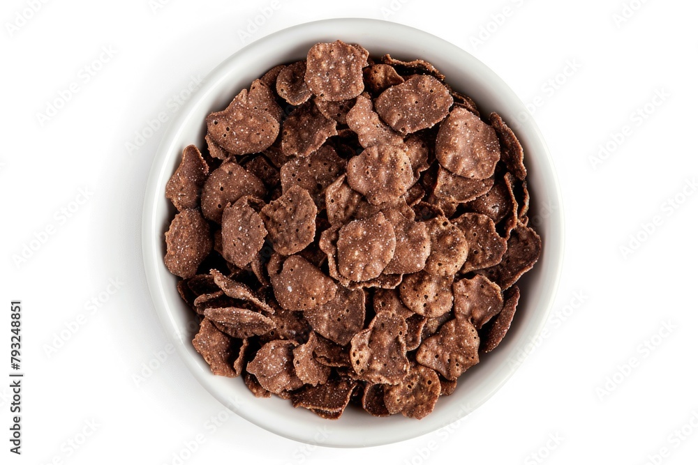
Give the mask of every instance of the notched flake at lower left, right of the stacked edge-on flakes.
<path id="1" fill-rule="evenodd" d="M 293 369 L 293 348 L 296 345 L 282 340 L 267 342 L 247 364 L 247 371 L 257 377 L 262 388 L 276 395 L 302 387 L 303 381 Z"/>

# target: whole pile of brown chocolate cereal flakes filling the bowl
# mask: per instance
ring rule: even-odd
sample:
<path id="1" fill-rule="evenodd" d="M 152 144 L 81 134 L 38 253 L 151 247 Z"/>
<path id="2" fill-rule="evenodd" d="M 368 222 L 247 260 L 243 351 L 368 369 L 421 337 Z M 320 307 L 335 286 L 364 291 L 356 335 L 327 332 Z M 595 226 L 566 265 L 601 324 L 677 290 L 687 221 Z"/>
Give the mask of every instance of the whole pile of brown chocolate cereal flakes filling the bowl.
<path id="1" fill-rule="evenodd" d="M 322 418 L 424 418 L 498 346 L 541 252 L 498 114 L 338 40 L 206 125 L 166 187 L 165 264 L 214 374 Z"/>

